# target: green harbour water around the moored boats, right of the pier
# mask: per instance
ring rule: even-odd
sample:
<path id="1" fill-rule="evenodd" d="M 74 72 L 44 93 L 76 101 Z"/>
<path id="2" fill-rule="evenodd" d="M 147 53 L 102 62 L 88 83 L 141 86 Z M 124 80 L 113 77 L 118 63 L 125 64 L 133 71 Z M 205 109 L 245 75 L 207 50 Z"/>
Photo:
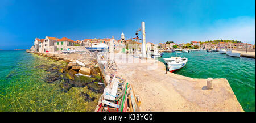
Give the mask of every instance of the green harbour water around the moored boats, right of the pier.
<path id="1" fill-rule="evenodd" d="M 176 53 L 164 53 L 163 58 L 175 56 Z M 174 73 L 191 78 L 226 78 L 245 111 L 255 112 L 255 59 L 230 57 L 218 52 L 205 50 L 191 53 L 177 53 L 188 58 L 185 67 Z"/>

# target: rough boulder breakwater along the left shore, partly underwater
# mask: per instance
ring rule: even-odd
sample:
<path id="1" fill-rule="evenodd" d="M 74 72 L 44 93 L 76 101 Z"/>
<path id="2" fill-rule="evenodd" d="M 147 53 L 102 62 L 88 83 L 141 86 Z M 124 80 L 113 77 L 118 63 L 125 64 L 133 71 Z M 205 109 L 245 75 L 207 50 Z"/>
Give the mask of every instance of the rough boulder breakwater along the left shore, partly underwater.
<path id="1" fill-rule="evenodd" d="M 88 90 L 94 92 L 95 94 L 101 94 L 105 88 L 104 81 L 101 77 L 100 69 L 94 56 L 84 55 L 77 56 L 77 54 L 63 55 L 63 54 L 51 54 L 51 53 L 39 53 L 30 52 L 38 56 L 48 57 L 52 60 L 63 60 L 67 62 L 64 67 L 59 67 L 55 65 L 39 65 L 36 66 L 39 69 L 48 71 L 49 74 L 43 78 L 43 80 L 49 84 L 59 83 L 63 92 L 69 91 L 72 87 L 87 87 Z M 94 101 L 98 99 L 88 93 L 81 93 L 80 96 L 84 97 L 85 101 Z"/>

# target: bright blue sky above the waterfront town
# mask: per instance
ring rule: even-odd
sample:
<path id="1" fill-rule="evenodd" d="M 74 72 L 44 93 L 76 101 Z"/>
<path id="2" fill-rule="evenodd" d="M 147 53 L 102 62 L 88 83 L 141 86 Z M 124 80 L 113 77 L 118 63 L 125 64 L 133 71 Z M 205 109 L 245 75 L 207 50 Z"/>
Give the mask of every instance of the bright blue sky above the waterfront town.
<path id="1" fill-rule="evenodd" d="M 0 1 L 0 49 L 28 49 L 35 37 L 135 37 L 187 43 L 234 39 L 255 44 L 255 1 Z"/>

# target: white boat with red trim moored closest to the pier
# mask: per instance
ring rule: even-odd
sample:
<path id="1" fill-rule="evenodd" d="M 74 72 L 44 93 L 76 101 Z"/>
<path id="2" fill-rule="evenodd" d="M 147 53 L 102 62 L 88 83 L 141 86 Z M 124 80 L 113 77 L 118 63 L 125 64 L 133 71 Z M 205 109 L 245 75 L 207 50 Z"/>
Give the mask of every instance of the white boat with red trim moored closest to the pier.
<path id="1" fill-rule="evenodd" d="M 188 58 L 179 58 L 175 61 L 168 62 L 167 63 L 168 69 L 172 73 L 175 70 L 179 70 L 182 67 L 184 67 L 185 65 L 187 65 L 187 62 L 188 62 Z"/>

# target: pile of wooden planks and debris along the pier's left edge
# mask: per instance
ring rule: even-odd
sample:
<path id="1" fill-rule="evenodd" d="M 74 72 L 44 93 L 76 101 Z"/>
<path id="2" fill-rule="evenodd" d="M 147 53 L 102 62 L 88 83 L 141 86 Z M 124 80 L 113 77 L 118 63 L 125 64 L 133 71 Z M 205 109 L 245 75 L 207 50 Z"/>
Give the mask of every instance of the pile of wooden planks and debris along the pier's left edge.
<path id="1" fill-rule="evenodd" d="M 141 101 L 133 86 L 119 77 L 117 64 L 107 54 L 98 54 L 98 65 L 106 88 L 101 95 L 96 112 L 139 112 Z"/>

